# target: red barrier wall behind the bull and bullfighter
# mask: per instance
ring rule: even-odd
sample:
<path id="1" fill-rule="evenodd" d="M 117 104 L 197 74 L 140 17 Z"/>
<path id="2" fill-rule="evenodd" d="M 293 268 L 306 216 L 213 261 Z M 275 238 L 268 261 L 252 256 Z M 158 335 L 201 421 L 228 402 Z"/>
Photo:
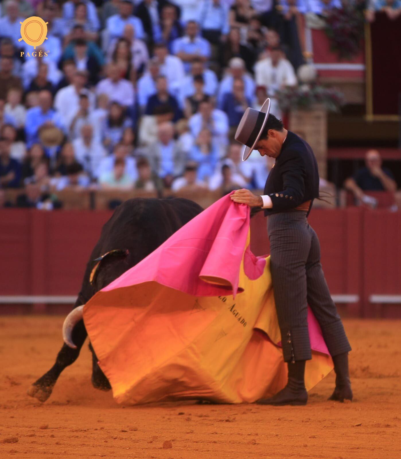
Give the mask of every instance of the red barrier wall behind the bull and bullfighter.
<path id="1" fill-rule="evenodd" d="M 0 295 L 77 295 L 85 265 L 110 212 L 0 210 Z M 332 294 L 359 295 L 354 316 L 401 316 L 401 306 L 372 305 L 372 294 L 401 294 L 401 213 L 316 209 L 316 230 Z M 251 246 L 269 253 L 266 219 L 251 220 Z M 1 305 L 0 305 L 1 308 Z M 384 309 L 383 309 L 384 308 Z"/>

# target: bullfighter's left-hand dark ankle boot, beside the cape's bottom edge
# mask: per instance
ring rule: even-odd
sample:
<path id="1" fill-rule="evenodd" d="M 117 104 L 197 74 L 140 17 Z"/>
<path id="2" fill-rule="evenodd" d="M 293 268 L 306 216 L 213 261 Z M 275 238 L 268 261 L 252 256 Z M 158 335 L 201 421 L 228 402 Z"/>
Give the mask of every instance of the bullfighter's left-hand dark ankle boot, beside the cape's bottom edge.
<path id="1" fill-rule="evenodd" d="M 274 397 L 261 398 L 261 405 L 306 405 L 308 393 L 305 388 L 305 360 L 288 362 L 288 382 Z"/>

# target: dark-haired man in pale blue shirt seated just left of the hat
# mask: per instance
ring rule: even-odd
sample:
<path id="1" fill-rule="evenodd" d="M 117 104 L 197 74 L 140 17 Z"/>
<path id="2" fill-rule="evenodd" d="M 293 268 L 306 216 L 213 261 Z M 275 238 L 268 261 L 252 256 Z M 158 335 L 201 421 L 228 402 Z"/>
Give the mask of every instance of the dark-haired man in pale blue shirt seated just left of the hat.
<path id="1" fill-rule="evenodd" d="M 199 105 L 199 112 L 189 118 L 189 129 L 194 138 L 198 138 L 202 129 L 208 129 L 212 134 L 214 144 L 224 148 L 228 141 L 227 115 L 213 107 L 209 98 Z"/>

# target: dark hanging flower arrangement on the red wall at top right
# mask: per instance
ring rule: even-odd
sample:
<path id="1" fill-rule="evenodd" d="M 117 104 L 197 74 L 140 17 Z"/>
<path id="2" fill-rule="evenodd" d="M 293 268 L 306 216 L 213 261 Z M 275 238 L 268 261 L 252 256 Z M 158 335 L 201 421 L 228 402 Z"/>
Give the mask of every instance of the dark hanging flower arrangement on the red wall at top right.
<path id="1" fill-rule="evenodd" d="M 351 59 L 361 50 L 364 18 L 361 11 L 344 6 L 333 8 L 325 14 L 325 32 L 330 48 L 340 59 Z"/>

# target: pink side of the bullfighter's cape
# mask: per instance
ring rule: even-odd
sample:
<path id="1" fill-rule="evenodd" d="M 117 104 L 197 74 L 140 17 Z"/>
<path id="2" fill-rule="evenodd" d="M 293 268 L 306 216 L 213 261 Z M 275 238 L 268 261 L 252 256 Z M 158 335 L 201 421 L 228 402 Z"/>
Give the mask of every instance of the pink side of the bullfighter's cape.
<path id="1" fill-rule="evenodd" d="M 234 203 L 229 196 L 197 215 L 101 291 L 156 281 L 194 297 L 235 297 L 242 292 L 244 289 L 239 285 L 242 259 L 246 276 L 256 280 L 263 273 L 266 257 L 256 257 L 250 246 L 246 246 L 250 208 Z M 329 355 L 310 308 L 308 326 L 312 350 Z"/>

